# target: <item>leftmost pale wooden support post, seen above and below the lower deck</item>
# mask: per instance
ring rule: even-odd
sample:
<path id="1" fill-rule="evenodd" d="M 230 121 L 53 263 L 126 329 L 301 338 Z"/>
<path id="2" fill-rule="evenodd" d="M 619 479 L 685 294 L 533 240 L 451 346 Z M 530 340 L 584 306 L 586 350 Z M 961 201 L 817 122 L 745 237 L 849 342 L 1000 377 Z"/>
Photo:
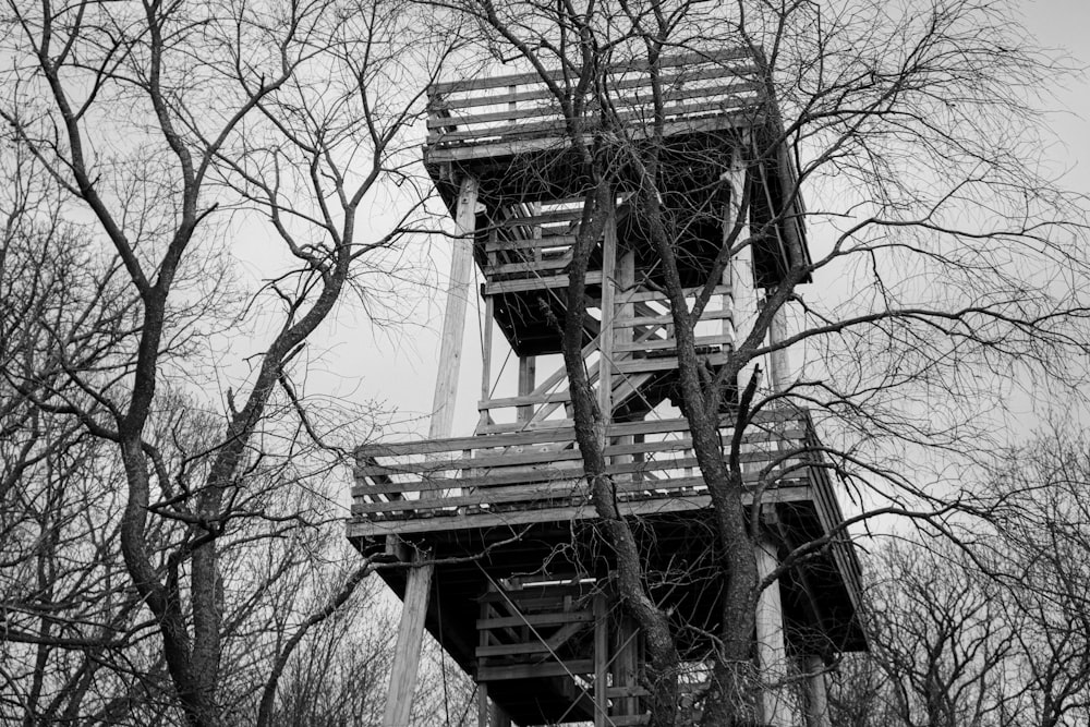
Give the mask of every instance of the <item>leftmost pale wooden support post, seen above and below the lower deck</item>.
<path id="1" fill-rule="evenodd" d="M 439 371 L 432 400 L 432 421 L 428 437 L 449 437 L 455 421 L 455 399 L 458 389 L 458 369 L 462 358 L 462 334 L 465 330 L 465 305 L 471 294 L 473 275 L 473 232 L 476 230 L 477 182 L 472 177 L 462 180 L 458 194 L 455 239 L 450 256 L 450 286 L 447 289 L 446 312 L 443 316 L 443 338 L 439 343 Z M 403 727 L 409 724 L 416 671 L 420 667 L 420 647 L 424 638 L 424 616 L 427 613 L 427 594 L 432 587 L 433 566 L 420 565 L 426 556 L 417 553 L 413 568 L 409 569 L 405 599 L 398 625 L 398 641 L 390 669 L 390 688 L 387 691 L 384 727 Z"/>

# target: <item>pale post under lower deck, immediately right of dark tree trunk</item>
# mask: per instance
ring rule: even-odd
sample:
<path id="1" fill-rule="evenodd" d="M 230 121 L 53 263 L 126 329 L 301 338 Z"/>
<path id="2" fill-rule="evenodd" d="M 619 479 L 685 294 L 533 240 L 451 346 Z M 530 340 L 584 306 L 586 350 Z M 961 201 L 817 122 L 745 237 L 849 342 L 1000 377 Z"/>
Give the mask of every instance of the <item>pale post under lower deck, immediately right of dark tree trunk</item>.
<path id="1" fill-rule="evenodd" d="M 776 547 L 762 540 L 754 547 L 756 574 L 766 578 L 775 570 L 778 559 Z M 761 718 L 771 727 L 789 727 L 792 724 L 787 690 L 783 688 L 787 676 L 787 649 L 784 644 L 784 609 L 779 595 L 779 581 L 761 592 L 756 604 L 756 661 L 761 676 Z"/>

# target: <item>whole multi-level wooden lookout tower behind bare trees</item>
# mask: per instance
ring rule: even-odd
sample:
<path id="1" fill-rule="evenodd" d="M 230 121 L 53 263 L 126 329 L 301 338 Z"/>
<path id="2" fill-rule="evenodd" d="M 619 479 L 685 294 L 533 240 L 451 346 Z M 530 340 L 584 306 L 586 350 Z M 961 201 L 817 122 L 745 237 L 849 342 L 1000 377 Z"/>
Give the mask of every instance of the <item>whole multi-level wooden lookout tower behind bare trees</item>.
<path id="1" fill-rule="evenodd" d="M 631 104 L 619 113 L 639 123 L 646 78 L 630 71 L 618 72 L 620 102 Z M 807 254 L 801 202 L 785 192 L 794 187 L 794 166 L 786 156 L 754 163 L 750 155 L 779 128 L 753 73 L 743 54 L 729 51 L 664 64 L 667 137 L 699 150 L 665 203 L 695 201 L 693 209 L 705 210 L 679 241 L 685 284 L 701 280 L 746 185 L 750 225 L 780 220 L 771 242 L 732 263 L 698 325 L 699 352 L 713 368 L 755 315 L 762 289 L 776 283 L 791 255 Z M 482 727 L 644 724 L 641 634 L 615 596 L 610 557 L 595 533 L 557 355 L 585 182 L 566 162 L 559 118 L 535 74 L 437 84 L 429 99 L 425 163 L 461 233 L 429 438 L 359 448 L 348 528 L 361 552 L 429 564 L 382 571 L 404 599 L 386 724 L 408 722 L 424 628 L 479 684 Z M 722 202 L 704 204 L 699 195 L 712 189 Z M 472 436 L 451 438 L 474 264 L 492 322 L 483 336 L 480 417 Z M 654 595 L 691 627 L 682 649 L 699 690 L 710 649 L 700 634 L 715 630 L 720 554 L 688 426 L 673 403 L 676 343 L 659 280 L 639 216 L 619 195 L 588 274 L 583 354 L 608 412 L 605 455 L 618 505 L 639 523 L 649 568 L 665 574 Z M 786 362 L 765 363 L 773 386 L 782 385 Z M 725 441 L 730 421 L 725 412 Z M 746 471 L 772 483 L 762 499 L 768 538 L 756 553 L 765 573 L 792 543 L 843 521 L 815 443 L 799 409 L 766 410 L 747 428 Z M 764 683 L 791 682 L 794 674 L 791 683 L 802 687 L 795 696 L 767 689 L 755 706 L 761 724 L 828 725 L 821 665 L 865 649 L 859 587 L 850 543 L 834 540 L 764 592 L 754 666 Z"/>

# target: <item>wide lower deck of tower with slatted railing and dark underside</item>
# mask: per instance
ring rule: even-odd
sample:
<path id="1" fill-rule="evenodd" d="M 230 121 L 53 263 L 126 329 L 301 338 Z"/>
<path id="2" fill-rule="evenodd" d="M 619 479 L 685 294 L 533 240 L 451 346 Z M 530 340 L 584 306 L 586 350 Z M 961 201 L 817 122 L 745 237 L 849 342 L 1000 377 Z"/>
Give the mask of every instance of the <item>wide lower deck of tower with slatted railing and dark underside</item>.
<path id="1" fill-rule="evenodd" d="M 765 414 L 750 429 L 742 459 L 754 489 L 747 497 L 752 502 L 762 486 L 764 528 L 780 553 L 827 535 L 843 516 L 825 469 L 814 467 L 804 413 Z M 615 424 L 608 436 L 609 474 L 632 519 L 651 594 L 670 604 L 685 658 L 699 663 L 719 626 L 725 559 L 686 423 Z M 729 443 L 730 429 L 723 436 Z M 607 638 L 595 635 L 606 627 L 595 626 L 602 618 L 593 609 L 619 609 L 609 595 L 614 558 L 572 429 L 373 445 L 358 455 L 349 536 L 365 554 L 392 547 L 408 560 L 416 548 L 435 564 L 425 626 L 443 647 L 517 724 L 593 718 L 588 650 Z M 409 569 L 379 572 L 403 597 Z M 530 597 L 528 583 L 555 593 Z M 865 649 L 859 589 L 845 538 L 791 568 L 780 579 L 788 652 Z M 556 592 L 564 597 L 554 604 L 547 598 Z M 497 598 L 502 607 L 489 610 Z M 616 678 L 609 684 L 621 693 Z"/>

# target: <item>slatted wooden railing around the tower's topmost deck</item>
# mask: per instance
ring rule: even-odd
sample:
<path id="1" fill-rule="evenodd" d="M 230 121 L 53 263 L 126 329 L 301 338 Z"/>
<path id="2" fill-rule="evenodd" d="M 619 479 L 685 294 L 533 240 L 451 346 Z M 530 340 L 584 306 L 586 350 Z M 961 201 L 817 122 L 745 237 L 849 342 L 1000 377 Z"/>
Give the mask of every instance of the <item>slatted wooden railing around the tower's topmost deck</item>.
<path id="1" fill-rule="evenodd" d="M 657 64 L 667 135 L 754 123 L 761 84 L 744 49 L 690 52 Z M 578 78 L 549 74 L 566 94 Z M 617 64 L 606 74 L 611 112 L 633 136 L 646 134 L 653 119 L 646 63 Z M 600 109 L 586 109 L 593 124 Z M 469 78 L 428 88 L 425 161 L 440 162 L 549 148 L 565 134 L 556 95 L 537 73 Z"/>

